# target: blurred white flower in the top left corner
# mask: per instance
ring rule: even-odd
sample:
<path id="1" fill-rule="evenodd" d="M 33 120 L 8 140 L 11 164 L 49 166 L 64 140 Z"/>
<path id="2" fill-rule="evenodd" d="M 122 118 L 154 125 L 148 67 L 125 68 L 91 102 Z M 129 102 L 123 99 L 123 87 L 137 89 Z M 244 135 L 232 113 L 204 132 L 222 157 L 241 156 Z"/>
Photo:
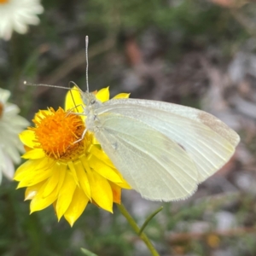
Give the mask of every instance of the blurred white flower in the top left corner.
<path id="1" fill-rule="evenodd" d="M 14 30 L 26 33 L 28 25 L 38 25 L 43 11 L 38 0 L 0 0 L 0 38 L 9 40 Z"/>

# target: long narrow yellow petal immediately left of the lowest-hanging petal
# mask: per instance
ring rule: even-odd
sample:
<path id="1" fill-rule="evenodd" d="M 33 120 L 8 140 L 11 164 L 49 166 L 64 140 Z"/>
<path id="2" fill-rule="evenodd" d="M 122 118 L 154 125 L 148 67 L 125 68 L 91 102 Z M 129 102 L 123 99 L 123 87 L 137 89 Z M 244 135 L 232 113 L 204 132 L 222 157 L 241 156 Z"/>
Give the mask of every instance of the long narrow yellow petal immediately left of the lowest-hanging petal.
<path id="1" fill-rule="evenodd" d="M 56 203 L 56 214 L 58 220 L 60 220 L 63 214 L 67 211 L 67 208 L 72 201 L 75 189 L 76 183 L 73 180 L 73 175 L 70 172 L 67 172 L 62 187 L 58 193 L 58 200 Z"/>

